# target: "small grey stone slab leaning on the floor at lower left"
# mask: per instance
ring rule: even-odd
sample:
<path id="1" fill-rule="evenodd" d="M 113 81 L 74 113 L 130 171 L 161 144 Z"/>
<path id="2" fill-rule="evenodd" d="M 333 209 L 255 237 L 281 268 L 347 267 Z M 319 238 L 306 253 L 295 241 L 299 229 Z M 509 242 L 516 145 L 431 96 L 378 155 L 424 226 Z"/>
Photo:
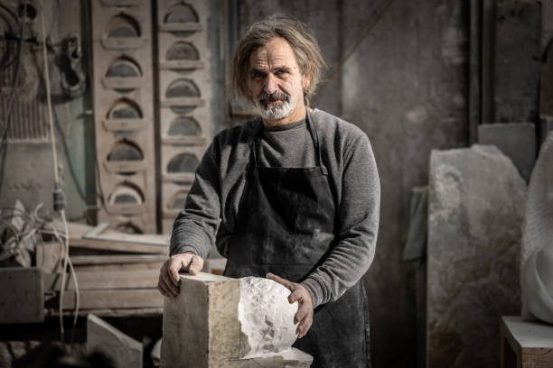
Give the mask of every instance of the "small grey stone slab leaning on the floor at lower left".
<path id="1" fill-rule="evenodd" d="M 87 317 L 87 352 L 108 355 L 119 368 L 142 368 L 142 344 L 101 318 Z"/>

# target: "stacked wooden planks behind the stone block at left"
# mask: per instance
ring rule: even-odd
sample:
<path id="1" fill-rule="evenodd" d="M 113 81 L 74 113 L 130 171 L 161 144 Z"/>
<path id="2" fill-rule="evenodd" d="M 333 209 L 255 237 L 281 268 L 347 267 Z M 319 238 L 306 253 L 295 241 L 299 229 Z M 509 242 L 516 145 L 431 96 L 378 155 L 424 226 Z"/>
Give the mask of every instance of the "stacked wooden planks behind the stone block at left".
<path id="1" fill-rule="evenodd" d="M 47 225 L 52 234 L 63 234 L 64 226 Z M 53 236 L 36 253 L 44 272 L 46 315 L 94 313 L 98 316 L 159 315 L 163 297 L 156 289 L 159 269 L 167 259 L 168 235 L 120 233 L 108 225 L 96 227 L 69 223 L 70 262 L 74 269 L 63 279 L 63 246 Z M 58 239 L 58 241 L 56 241 Z M 77 281 L 77 282 L 75 282 Z M 79 296 L 79 298 L 77 298 Z M 79 299 L 79 300 L 78 300 Z"/>

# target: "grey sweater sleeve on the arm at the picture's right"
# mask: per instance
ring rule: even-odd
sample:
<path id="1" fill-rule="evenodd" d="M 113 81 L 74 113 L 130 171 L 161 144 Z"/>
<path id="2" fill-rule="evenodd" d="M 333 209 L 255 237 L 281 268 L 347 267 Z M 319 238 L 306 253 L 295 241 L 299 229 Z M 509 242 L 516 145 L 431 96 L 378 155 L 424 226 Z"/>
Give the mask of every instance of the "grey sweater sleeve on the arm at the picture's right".
<path id="1" fill-rule="evenodd" d="M 338 213 L 339 242 L 302 282 L 313 298 L 314 308 L 339 299 L 361 279 L 374 258 L 380 216 L 380 179 L 366 134 L 359 136 L 344 153 Z"/>

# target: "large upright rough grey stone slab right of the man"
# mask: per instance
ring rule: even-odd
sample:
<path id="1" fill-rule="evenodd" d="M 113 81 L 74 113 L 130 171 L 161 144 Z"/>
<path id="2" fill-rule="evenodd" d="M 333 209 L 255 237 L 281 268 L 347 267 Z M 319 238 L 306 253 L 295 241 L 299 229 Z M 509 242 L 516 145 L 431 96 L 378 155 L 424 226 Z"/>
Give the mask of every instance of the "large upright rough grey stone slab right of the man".
<path id="1" fill-rule="evenodd" d="M 433 151 L 427 261 L 427 366 L 499 366 L 501 315 L 520 310 L 526 185 L 493 146 Z"/>

